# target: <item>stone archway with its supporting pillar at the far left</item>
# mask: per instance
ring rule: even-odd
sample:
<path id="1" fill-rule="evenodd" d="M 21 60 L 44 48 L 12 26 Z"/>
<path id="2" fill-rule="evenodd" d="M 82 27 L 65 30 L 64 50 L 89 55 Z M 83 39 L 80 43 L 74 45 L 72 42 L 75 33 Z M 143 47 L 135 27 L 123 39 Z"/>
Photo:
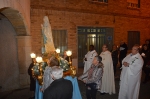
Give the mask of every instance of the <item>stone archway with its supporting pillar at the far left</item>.
<path id="1" fill-rule="evenodd" d="M 29 35 L 29 30 L 26 25 L 26 22 L 24 21 L 24 18 L 22 17 L 19 11 L 14 10 L 12 8 L 2 8 L 0 9 L 0 13 L 1 13 L 0 18 L 4 17 L 8 19 L 16 33 L 14 35 L 16 43 L 13 43 L 13 44 L 16 44 L 15 46 L 17 50 L 16 62 L 18 65 L 18 76 L 15 75 L 15 77 L 17 77 L 15 79 L 18 80 L 18 83 L 17 83 L 18 86 L 12 87 L 11 83 L 9 83 L 9 85 L 5 85 L 3 84 L 3 82 L 0 81 L 0 86 L 2 86 L 2 91 L 6 91 L 6 90 L 12 90 L 12 89 L 24 87 L 29 84 L 29 76 L 27 74 L 27 69 L 31 62 L 31 58 L 29 55 L 31 53 L 31 36 Z M 10 36 L 12 37 L 12 35 Z M 6 46 L 10 46 L 10 45 L 6 45 Z M 9 69 L 9 71 L 11 71 L 11 68 Z M 8 78 L 11 78 L 10 76 L 11 75 L 9 75 Z"/>

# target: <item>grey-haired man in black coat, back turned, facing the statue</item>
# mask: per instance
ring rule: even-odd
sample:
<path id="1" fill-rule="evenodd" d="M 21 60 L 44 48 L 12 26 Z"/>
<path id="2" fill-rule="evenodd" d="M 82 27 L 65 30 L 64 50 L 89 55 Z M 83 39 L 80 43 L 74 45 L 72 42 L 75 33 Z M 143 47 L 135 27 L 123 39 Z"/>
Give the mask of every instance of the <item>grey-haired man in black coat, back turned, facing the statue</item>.
<path id="1" fill-rule="evenodd" d="M 51 77 L 54 81 L 44 91 L 43 99 L 72 99 L 73 86 L 71 81 L 63 79 L 63 69 L 52 67 Z"/>

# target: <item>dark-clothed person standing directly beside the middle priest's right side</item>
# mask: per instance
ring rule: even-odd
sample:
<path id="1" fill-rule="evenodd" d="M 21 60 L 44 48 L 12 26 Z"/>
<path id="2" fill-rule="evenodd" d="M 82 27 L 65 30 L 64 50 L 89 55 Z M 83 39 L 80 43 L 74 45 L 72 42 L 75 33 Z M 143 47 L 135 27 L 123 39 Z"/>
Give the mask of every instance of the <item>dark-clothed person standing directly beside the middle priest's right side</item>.
<path id="1" fill-rule="evenodd" d="M 111 51 L 111 56 L 113 60 L 113 66 L 114 66 L 114 75 L 116 74 L 116 67 L 118 64 L 118 49 L 116 45 L 113 45 L 112 51 Z"/>

